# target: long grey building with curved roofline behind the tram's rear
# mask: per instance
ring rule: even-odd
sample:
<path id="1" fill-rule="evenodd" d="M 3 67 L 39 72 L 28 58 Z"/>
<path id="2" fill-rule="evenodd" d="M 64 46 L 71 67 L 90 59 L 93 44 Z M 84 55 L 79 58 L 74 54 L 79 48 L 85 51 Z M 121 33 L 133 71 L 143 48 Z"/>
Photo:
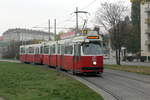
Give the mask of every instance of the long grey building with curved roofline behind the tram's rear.
<path id="1" fill-rule="evenodd" d="M 3 33 L 4 41 L 53 40 L 54 35 L 48 32 L 29 29 L 8 29 Z"/>

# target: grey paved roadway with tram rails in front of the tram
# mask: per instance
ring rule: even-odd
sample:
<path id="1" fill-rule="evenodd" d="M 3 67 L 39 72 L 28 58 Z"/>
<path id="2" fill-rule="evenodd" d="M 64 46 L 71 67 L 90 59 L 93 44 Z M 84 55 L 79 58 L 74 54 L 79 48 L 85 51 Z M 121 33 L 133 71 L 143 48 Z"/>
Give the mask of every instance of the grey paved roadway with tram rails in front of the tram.
<path id="1" fill-rule="evenodd" d="M 82 77 L 116 100 L 150 100 L 150 76 L 105 69 L 102 77 Z"/>

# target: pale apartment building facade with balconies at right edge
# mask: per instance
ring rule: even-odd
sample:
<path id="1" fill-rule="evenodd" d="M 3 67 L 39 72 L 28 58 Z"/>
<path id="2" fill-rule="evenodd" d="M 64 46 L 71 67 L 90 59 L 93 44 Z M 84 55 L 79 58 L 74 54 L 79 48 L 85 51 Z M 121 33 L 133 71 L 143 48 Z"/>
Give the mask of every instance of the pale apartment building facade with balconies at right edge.
<path id="1" fill-rule="evenodd" d="M 141 4 L 141 56 L 150 56 L 150 2 Z"/>

